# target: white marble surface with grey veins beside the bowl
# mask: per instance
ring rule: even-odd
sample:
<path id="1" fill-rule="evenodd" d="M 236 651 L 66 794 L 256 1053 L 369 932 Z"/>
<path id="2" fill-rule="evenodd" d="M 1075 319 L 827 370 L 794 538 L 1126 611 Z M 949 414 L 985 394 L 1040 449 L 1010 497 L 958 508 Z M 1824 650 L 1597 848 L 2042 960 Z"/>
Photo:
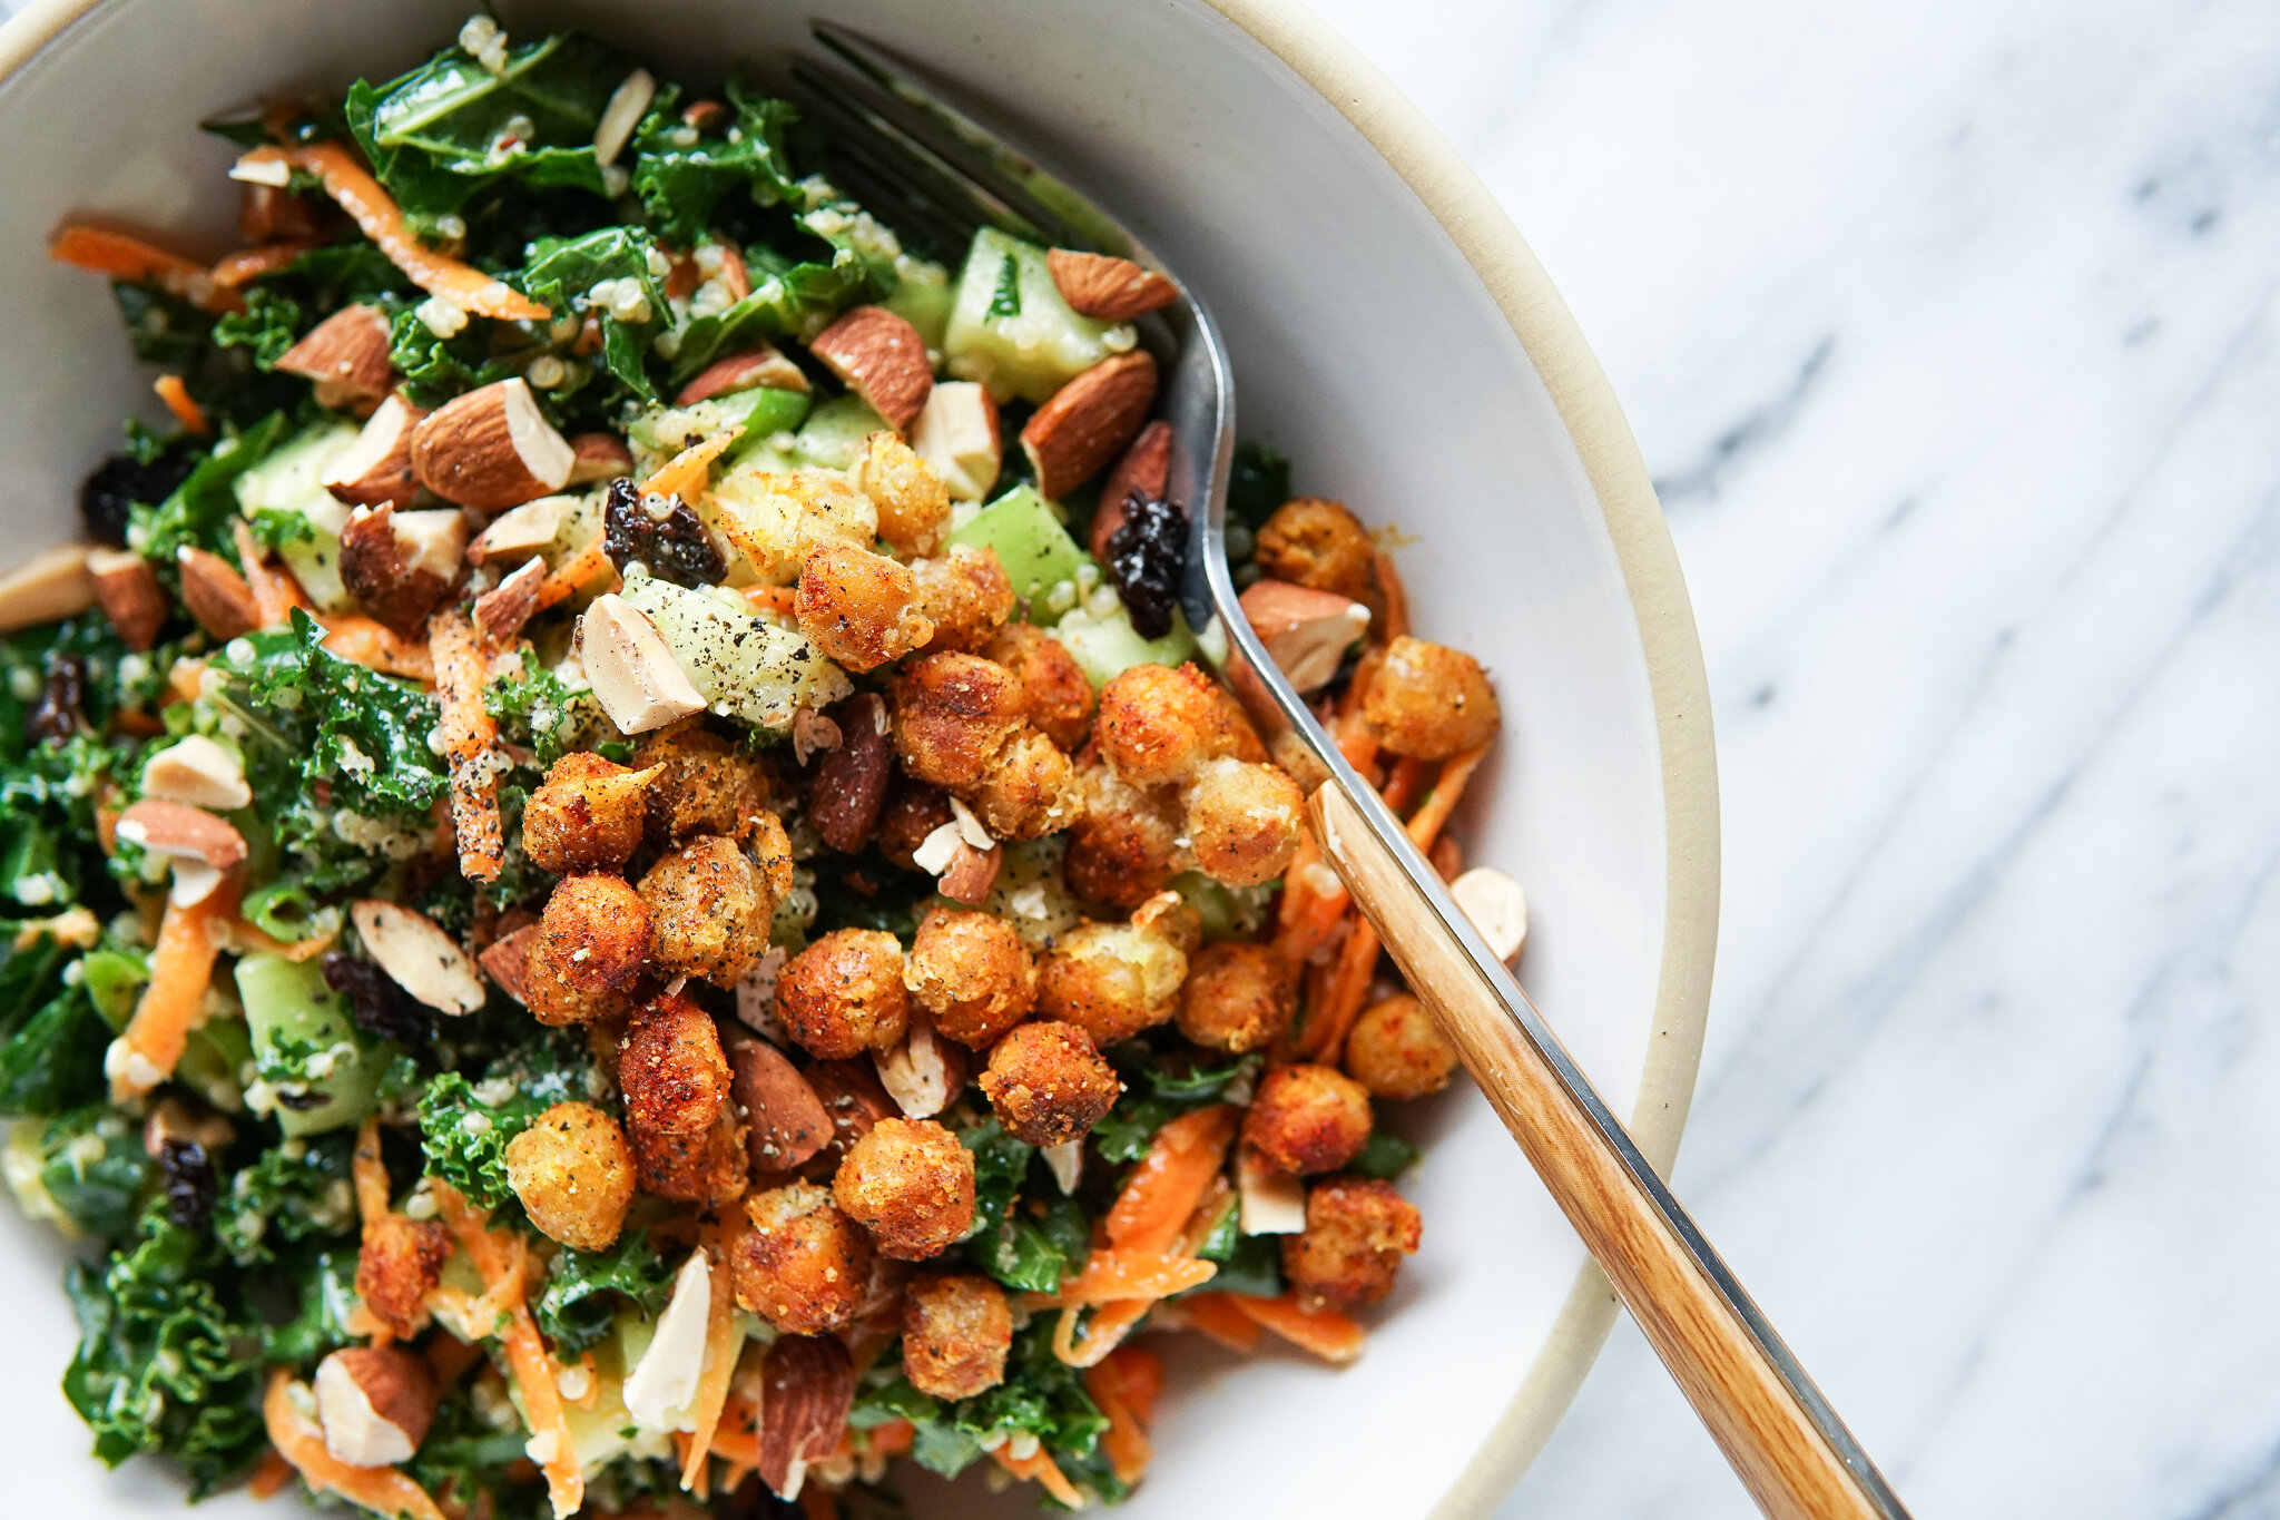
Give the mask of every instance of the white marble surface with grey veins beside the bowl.
<path id="1" fill-rule="evenodd" d="M 1318 0 L 1621 394 L 1710 661 L 1676 1169 L 1920 1518 L 2280 1515 L 2280 9 Z M 1505 1515 L 1746 1515 L 1623 1324 Z"/>

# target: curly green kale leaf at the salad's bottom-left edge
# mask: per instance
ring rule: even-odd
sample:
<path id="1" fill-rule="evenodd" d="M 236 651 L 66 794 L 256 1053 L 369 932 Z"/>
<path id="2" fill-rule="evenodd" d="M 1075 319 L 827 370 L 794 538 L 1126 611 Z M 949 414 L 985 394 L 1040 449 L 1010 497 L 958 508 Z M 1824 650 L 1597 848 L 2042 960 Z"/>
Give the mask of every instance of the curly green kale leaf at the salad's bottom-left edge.
<path id="1" fill-rule="evenodd" d="M 210 1242 L 153 1210 L 135 1249 L 66 1278 L 80 1349 L 64 1397 L 93 1429 L 96 1456 L 112 1468 L 137 1452 L 173 1456 L 194 1497 L 262 1449 L 260 1326 L 223 1306 L 214 1265 Z"/>

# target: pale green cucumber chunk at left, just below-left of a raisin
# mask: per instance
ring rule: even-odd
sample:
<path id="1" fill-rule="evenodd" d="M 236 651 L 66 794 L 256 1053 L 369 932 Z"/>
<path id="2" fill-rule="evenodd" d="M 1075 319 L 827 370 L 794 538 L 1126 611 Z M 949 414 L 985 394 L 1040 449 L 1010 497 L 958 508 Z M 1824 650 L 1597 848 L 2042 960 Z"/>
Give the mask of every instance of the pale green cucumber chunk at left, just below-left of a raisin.
<path id="1" fill-rule="evenodd" d="M 392 1051 L 356 1028 L 317 962 L 246 955 L 237 962 L 237 996 L 246 1005 L 253 1064 L 278 1089 L 278 1128 L 321 1135 L 365 1117 Z"/>

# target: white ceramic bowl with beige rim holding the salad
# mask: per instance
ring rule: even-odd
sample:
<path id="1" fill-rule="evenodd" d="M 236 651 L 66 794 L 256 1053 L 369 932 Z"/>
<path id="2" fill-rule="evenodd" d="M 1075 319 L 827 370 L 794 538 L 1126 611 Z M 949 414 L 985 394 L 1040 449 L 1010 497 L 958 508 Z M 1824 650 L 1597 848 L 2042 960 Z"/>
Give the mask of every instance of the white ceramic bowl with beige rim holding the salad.
<path id="1" fill-rule="evenodd" d="M 43 258 L 75 214 L 226 246 L 203 116 L 388 77 L 467 0 L 34 0 L 0 34 L 0 563 L 73 533 L 73 490 L 153 410 L 100 280 Z M 518 5 L 682 77 L 803 43 L 807 5 Z M 832 18 L 1001 107 L 1135 226 L 1227 328 L 1249 438 L 1297 485 L 1402 531 L 1420 631 L 1505 702 L 1475 861 L 1534 905 L 1523 973 L 1660 1164 L 1685 1121 L 1717 927 L 1710 704 L 1685 586 L 1630 433 L 1518 235 L 1423 119 L 1284 0 L 844 0 Z M 1425 1249 L 1368 1356 L 1183 1354 L 1133 1520 L 1475 1515 L 1550 1433 L 1612 1322 L 1605 1283 L 1487 1105 L 1414 1114 Z M 0 1208 L 7 1513 L 173 1513 L 169 1474 L 103 1472 L 57 1392 L 66 1249 Z M 244 1509 L 242 1509 L 244 1506 Z M 258 1513 L 242 1497 L 214 1520 Z"/>

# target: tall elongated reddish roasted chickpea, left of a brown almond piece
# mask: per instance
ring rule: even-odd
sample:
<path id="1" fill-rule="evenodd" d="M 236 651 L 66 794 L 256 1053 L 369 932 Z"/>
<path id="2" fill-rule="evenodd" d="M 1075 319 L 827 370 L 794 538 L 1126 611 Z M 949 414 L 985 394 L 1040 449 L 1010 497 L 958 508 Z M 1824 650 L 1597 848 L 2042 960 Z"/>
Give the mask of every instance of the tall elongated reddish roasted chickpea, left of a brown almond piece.
<path id="1" fill-rule="evenodd" d="M 743 1123 L 711 1014 L 684 996 L 634 1014 L 618 1048 L 625 1137 L 643 1192 L 720 1203 L 743 1192 Z"/>

